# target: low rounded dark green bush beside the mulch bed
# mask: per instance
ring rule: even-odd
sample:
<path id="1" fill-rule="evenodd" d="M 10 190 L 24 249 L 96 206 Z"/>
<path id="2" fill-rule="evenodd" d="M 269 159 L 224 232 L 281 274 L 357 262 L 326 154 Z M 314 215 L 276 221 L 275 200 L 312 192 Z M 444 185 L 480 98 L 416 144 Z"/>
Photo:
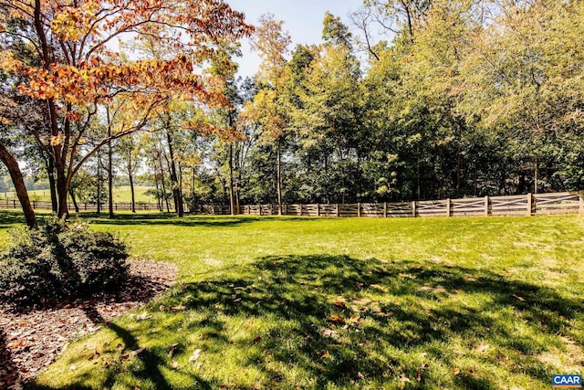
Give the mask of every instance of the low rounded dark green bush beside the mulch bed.
<path id="1" fill-rule="evenodd" d="M 87 224 L 68 227 L 50 216 L 40 229 L 17 227 L 11 236 L 11 248 L 0 257 L 0 297 L 12 303 L 87 296 L 127 277 L 124 243 Z"/>

